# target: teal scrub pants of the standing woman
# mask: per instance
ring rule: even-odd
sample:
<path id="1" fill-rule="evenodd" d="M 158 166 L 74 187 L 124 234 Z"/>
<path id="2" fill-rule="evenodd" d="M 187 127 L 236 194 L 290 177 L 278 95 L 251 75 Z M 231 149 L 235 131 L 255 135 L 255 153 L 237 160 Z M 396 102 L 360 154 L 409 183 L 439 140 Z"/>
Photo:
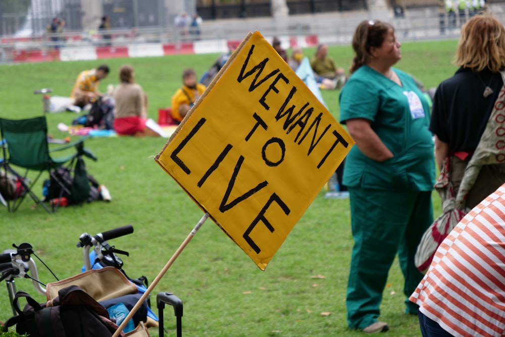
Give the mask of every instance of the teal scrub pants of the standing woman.
<path id="1" fill-rule="evenodd" d="M 421 236 L 433 223 L 431 191 L 348 189 L 355 242 L 346 298 L 349 328 L 364 329 L 377 321 L 396 254 L 405 278 L 406 312 L 417 314 L 417 305 L 408 298 L 423 278 L 414 256 Z"/>

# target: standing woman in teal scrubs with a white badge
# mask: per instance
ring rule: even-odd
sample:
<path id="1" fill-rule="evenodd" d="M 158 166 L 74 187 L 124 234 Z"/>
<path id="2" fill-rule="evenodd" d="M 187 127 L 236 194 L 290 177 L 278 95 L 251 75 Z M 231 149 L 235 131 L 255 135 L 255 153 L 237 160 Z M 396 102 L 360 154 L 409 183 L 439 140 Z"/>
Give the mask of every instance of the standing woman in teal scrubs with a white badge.
<path id="1" fill-rule="evenodd" d="M 345 161 L 355 241 L 347 284 L 347 323 L 364 332 L 387 331 L 378 320 L 389 269 L 398 254 L 408 300 L 423 275 L 414 255 L 433 222 L 435 183 L 429 106 L 413 78 L 392 68 L 401 59 L 394 28 L 363 21 L 352 47 L 351 76 L 340 94 L 340 122 L 356 141 Z"/>

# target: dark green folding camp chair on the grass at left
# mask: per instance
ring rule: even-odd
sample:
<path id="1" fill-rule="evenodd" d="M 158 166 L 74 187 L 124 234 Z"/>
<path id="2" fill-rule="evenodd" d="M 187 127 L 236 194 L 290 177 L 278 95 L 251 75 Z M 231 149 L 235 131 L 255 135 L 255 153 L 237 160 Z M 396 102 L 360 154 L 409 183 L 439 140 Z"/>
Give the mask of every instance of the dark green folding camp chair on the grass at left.
<path id="1" fill-rule="evenodd" d="M 32 191 L 38 178 L 42 173 L 48 172 L 49 176 L 61 185 L 62 194 L 65 190 L 70 192 L 58 176 L 52 173 L 52 170 L 67 163 L 67 166 L 72 168 L 75 159 L 82 155 L 96 160 L 96 157 L 84 148 L 83 142 L 88 138 L 87 136 L 81 137 L 76 141 L 68 142 L 61 147 L 49 149 L 45 116 L 21 120 L 0 118 L 0 133 L 4 139 L 2 146 L 4 158 L 0 160 L 0 167 L 3 167 L 6 173 L 9 172 L 15 175 L 24 189 L 22 194 L 14 196 L 12 200 L 9 200 L 10 198 L 5 198 L 7 199 L 9 212 L 16 211 L 27 195 L 37 204 L 41 205 L 47 212 L 56 212 L 59 203 L 53 203 L 52 207 L 49 208 Z M 72 147 L 75 147 L 75 153 L 68 150 L 65 152 L 65 155 L 61 157 L 52 157 L 54 153 Z M 69 152 L 71 153 L 69 154 Z M 18 173 L 13 166 L 24 169 L 24 174 Z M 28 179 L 27 176 L 30 171 L 38 172 L 35 178 L 30 177 L 31 179 Z M 5 176 L 7 176 L 7 174 Z"/>

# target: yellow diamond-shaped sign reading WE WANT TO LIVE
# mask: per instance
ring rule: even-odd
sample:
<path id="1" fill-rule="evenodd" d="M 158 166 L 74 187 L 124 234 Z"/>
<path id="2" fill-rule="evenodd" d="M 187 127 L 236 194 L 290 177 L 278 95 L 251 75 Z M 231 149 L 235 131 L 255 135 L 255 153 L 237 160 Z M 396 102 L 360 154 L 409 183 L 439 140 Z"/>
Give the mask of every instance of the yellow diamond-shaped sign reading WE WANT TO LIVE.
<path id="1" fill-rule="evenodd" d="M 255 32 L 155 160 L 265 270 L 353 144 Z"/>

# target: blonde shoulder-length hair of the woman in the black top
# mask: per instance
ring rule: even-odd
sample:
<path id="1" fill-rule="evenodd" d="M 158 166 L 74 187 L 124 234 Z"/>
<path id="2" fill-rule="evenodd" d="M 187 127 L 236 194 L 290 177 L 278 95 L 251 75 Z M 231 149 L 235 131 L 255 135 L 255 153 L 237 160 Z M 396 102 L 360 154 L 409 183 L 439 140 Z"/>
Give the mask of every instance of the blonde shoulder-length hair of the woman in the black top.
<path id="1" fill-rule="evenodd" d="M 479 72 L 488 68 L 499 72 L 505 66 L 505 29 L 491 15 L 477 15 L 461 29 L 456 50 L 457 66 Z"/>

